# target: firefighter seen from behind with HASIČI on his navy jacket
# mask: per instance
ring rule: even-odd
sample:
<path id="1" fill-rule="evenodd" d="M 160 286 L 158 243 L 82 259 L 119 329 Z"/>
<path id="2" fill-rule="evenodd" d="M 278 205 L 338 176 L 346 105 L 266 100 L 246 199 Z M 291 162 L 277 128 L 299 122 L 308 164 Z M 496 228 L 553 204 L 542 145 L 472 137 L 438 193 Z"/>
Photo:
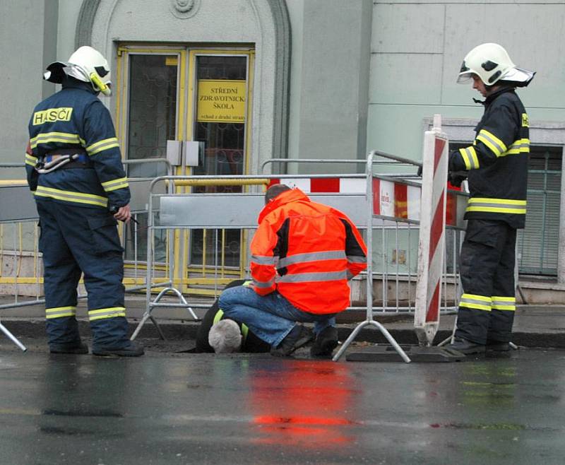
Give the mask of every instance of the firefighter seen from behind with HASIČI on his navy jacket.
<path id="1" fill-rule="evenodd" d="M 62 89 L 40 102 L 29 123 L 28 183 L 40 216 L 45 312 L 52 353 L 88 353 L 76 322 L 84 274 L 95 355 L 143 355 L 126 336 L 124 262 L 117 220 L 128 221 L 130 192 L 107 108 L 109 66 L 92 47 L 47 67 Z"/>

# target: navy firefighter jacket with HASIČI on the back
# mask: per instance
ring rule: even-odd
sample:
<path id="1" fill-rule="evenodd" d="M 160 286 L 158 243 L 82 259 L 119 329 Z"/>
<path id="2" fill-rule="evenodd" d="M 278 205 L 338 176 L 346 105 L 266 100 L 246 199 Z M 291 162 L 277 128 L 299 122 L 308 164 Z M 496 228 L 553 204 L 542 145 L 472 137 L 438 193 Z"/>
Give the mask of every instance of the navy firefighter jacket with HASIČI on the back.
<path id="1" fill-rule="evenodd" d="M 63 88 L 40 102 L 29 124 L 25 155 L 28 184 L 35 199 L 112 208 L 129 204 L 130 192 L 112 117 L 89 83 L 66 78 Z M 39 175 L 35 165 L 57 150 L 76 148 L 90 169 L 62 167 Z"/>

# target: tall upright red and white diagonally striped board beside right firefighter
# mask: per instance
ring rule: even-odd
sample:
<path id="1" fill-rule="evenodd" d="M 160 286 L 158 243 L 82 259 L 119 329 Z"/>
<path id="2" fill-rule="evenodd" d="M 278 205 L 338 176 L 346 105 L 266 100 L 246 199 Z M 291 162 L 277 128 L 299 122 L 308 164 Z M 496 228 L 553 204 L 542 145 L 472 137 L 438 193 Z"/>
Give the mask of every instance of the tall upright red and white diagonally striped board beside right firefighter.
<path id="1" fill-rule="evenodd" d="M 432 344 L 439 327 L 441 273 L 444 267 L 448 139 L 441 134 L 439 122 L 434 131 L 424 134 L 422 156 L 422 201 L 420 241 L 418 243 L 418 278 L 414 326 L 418 340 Z M 456 203 L 453 203 L 456 206 Z"/>

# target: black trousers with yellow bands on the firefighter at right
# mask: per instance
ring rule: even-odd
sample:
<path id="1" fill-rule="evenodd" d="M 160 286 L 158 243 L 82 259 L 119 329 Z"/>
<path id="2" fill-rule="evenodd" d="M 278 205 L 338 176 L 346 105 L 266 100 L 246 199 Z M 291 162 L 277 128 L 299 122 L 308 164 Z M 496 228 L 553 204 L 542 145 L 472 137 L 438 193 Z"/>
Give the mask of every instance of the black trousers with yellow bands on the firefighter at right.
<path id="1" fill-rule="evenodd" d="M 463 295 L 455 336 L 474 343 L 509 342 L 516 310 L 516 229 L 496 220 L 468 220 L 460 254 Z"/>

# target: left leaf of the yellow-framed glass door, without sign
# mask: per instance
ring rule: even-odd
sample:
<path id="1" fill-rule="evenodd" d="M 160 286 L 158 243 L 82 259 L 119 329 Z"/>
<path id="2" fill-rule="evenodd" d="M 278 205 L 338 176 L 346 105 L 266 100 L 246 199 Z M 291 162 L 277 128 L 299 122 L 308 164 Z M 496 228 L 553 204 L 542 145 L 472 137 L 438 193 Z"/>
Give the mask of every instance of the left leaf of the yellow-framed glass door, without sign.
<path id="1" fill-rule="evenodd" d="M 182 140 L 186 100 L 181 86 L 186 76 L 186 51 L 178 48 L 119 47 L 117 66 L 117 136 L 131 178 L 153 179 L 167 174 L 167 140 Z M 181 111 L 179 111 L 181 110 Z M 147 188 L 132 184 L 131 189 Z M 148 196 L 148 192 L 139 193 Z M 138 223 L 124 228 L 126 262 L 147 257 L 147 215 L 137 213 Z M 158 221 L 158 217 L 155 219 Z M 155 261 L 167 260 L 167 235 L 155 231 Z"/>

